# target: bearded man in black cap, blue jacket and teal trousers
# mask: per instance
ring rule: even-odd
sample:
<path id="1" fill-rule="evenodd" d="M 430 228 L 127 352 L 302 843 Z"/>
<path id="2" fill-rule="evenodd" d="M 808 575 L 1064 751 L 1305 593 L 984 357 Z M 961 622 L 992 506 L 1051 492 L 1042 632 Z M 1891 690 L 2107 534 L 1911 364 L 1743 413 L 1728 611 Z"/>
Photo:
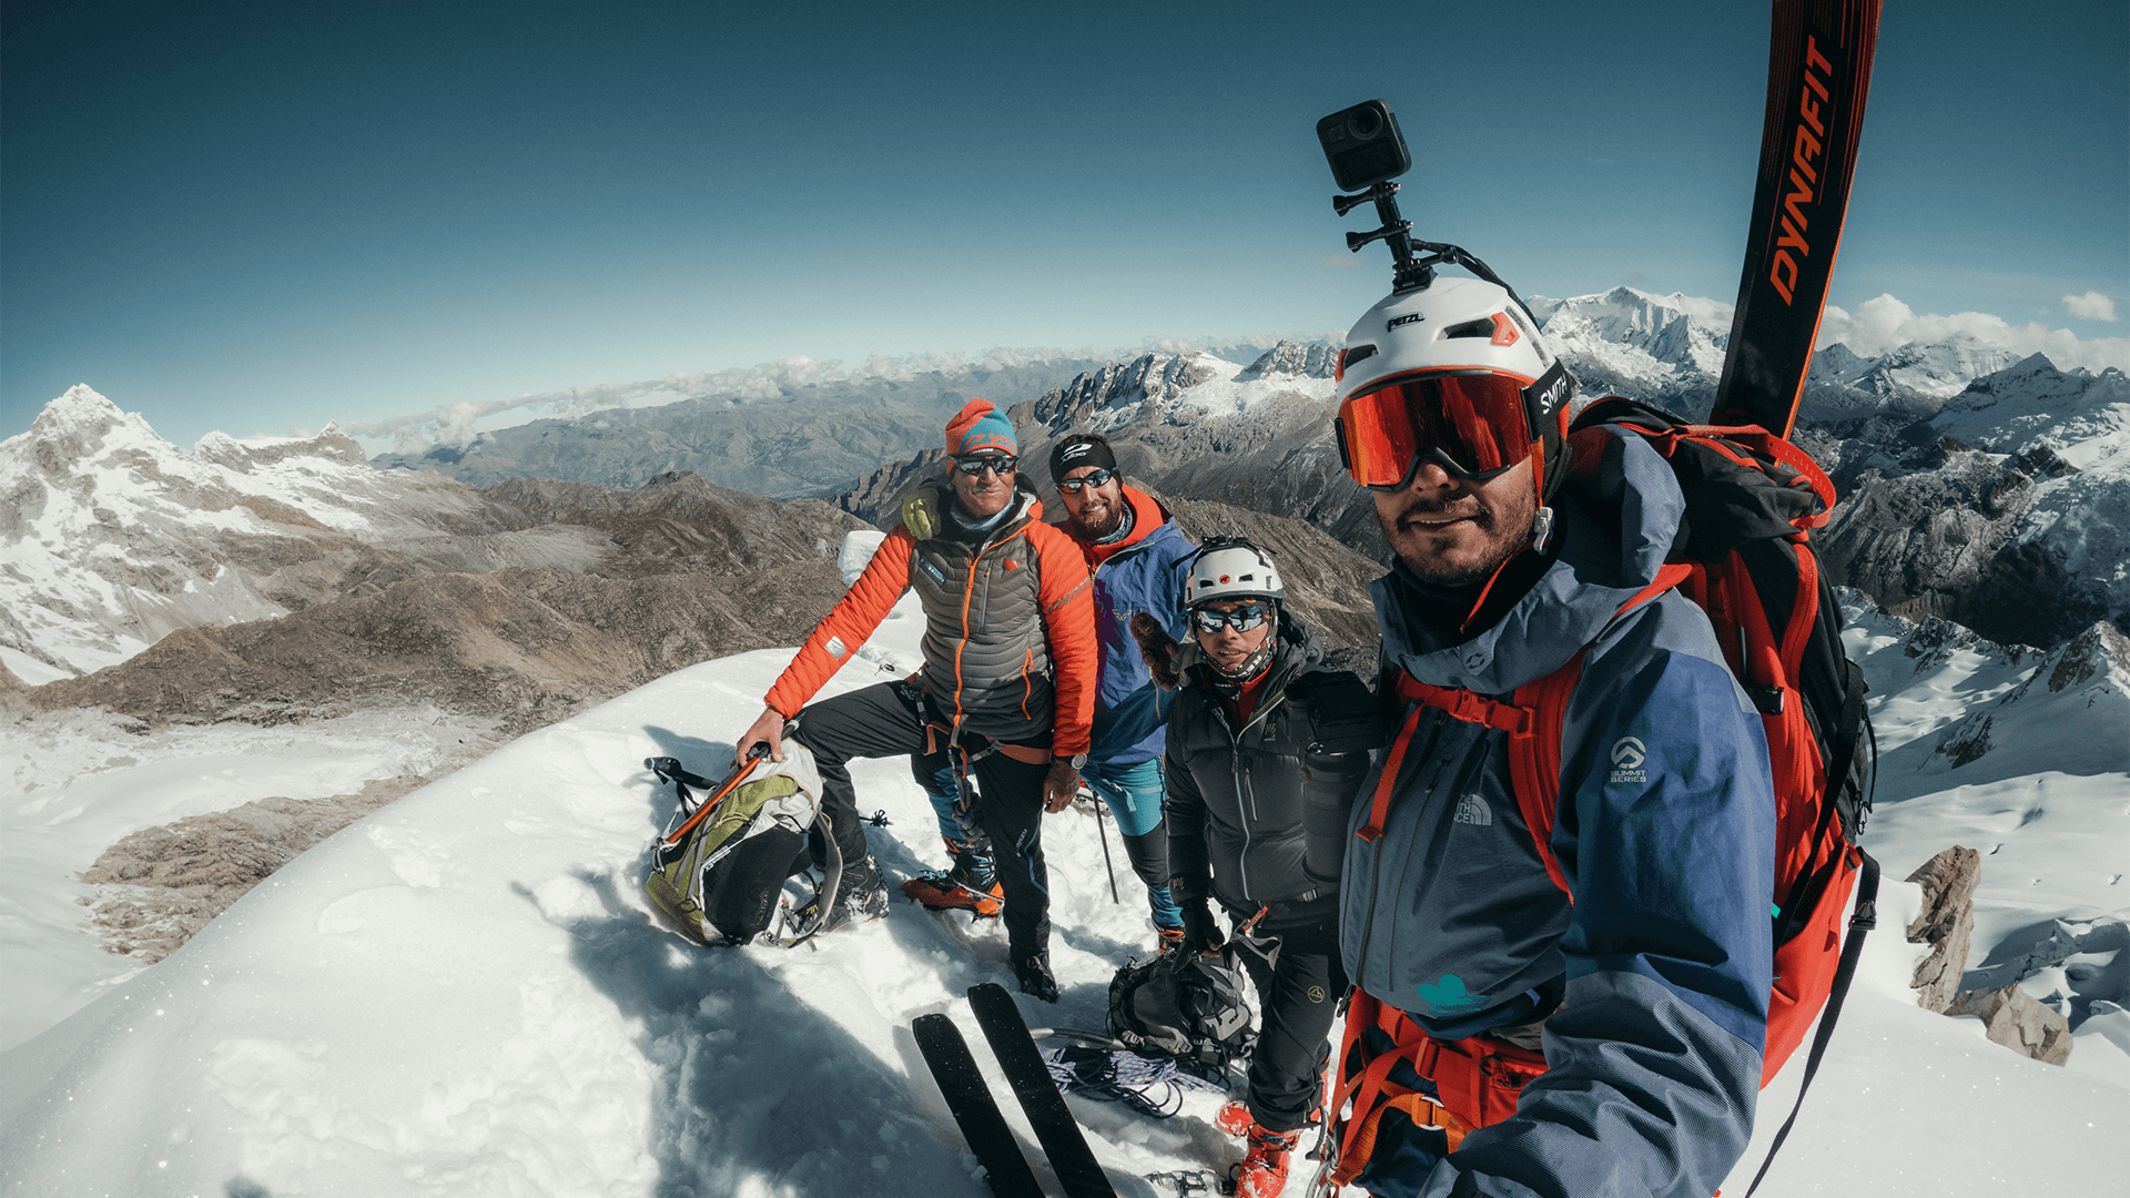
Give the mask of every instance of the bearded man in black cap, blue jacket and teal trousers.
<path id="1" fill-rule="evenodd" d="M 1184 631 L 1182 571 L 1178 563 L 1195 550 L 1161 503 L 1135 486 L 1125 486 L 1110 441 L 1099 433 L 1076 433 L 1050 450 L 1050 480 L 1065 503 L 1061 529 L 1071 535 L 1095 573 L 1095 642 L 1101 661 L 1095 693 L 1095 740 L 1080 761 L 1080 778 L 1101 795 L 1116 816 L 1131 870 L 1146 883 L 1161 951 L 1184 934 L 1182 912 L 1169 897 L 1169 840 L 1161 821 L 1161 748 L 1167 733 L 1169 695 L 1154 686 L 1140 644 L 1131 637 L 1131 616 L 1152 614 L 1169 637 Z M 939 810 L 939 831 L 954 865 L 903 883 L 903 893 L 931 908 L 969 908 L 995 914 L 990 857 L 956 819 L 954 780 L 927 780 Z"/>

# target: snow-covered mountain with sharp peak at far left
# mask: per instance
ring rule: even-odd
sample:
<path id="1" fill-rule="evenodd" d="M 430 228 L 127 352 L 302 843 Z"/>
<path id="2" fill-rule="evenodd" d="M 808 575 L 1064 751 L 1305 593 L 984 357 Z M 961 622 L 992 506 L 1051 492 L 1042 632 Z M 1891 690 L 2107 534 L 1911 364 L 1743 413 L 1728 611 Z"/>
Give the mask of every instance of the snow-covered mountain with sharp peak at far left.
<path id="1" fill-rule="evenodd" d="M 281 616 L 332 558 L 473 531 L 486 509 L 464 484 L 371 469 L 332 426 L 185 452 L 87 386 L 0 441 L 0 661 L 32 684 Z"/>

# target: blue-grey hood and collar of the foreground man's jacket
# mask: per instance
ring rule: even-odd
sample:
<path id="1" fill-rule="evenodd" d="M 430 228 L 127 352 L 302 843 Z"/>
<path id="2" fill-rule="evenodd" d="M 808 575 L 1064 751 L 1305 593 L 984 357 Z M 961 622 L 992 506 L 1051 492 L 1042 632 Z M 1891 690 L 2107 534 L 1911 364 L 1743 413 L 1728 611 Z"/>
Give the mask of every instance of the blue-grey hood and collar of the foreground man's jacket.
<path id="1" fill-rule="evenodd" d="M 1559 556 L 1500 620 L 1444 644 L 1414 612 L 1402 571 L 1370 584 L 1382 654 L 1419 682 L 1504 695 L 1559 669 L 1640 595 L 1672 550 L 1685 499 L 1672 467 L 1634 433 L 1612 431 L 1555 501 Z"/>

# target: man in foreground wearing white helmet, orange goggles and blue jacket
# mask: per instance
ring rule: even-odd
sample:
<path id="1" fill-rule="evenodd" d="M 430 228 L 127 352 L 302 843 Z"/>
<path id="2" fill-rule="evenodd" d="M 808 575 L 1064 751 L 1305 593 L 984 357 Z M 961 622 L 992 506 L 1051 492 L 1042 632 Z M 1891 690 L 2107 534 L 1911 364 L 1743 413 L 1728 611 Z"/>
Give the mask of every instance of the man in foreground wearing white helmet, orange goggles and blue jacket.
<path id="1" fill-rule="evenodd" d="M 1395 723 L 1346 840 L 1333 1179 L 1706 1198 L 1762 1081 L 1762 723 L 1659 582 L 1664 458 L 1612 426 L 1568 452 L 1572 377 L 1508 288 L 1404 284 L 1338 375 L 1342 458 L 1397 561 L 1372 586 Z M 1508 750 L 1540 680 L 1568 686 L 1553 810 Z"/>

